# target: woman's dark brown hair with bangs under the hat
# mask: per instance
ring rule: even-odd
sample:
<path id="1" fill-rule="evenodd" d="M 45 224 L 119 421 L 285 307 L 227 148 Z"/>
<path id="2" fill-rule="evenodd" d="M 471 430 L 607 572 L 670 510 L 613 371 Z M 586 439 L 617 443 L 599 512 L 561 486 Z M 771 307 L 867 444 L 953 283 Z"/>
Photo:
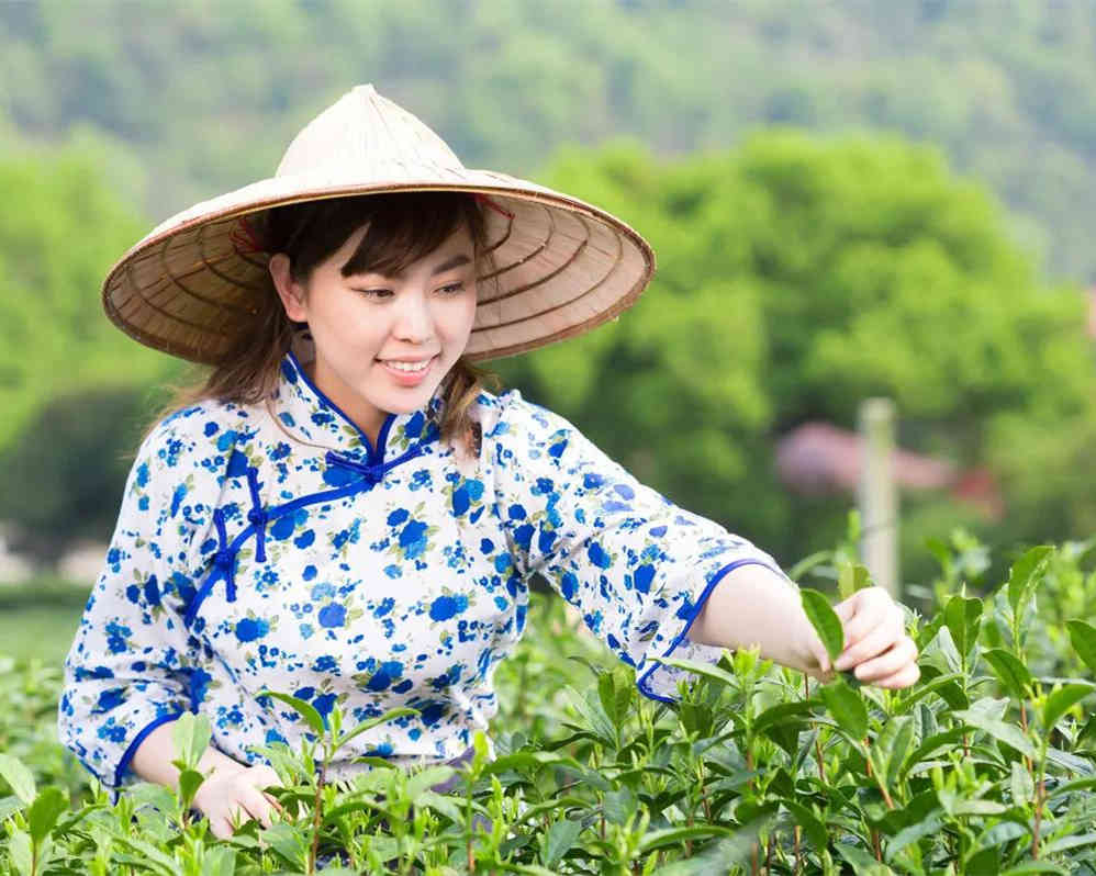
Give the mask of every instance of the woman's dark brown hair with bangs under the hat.
<path id="1" fill-rule="evenodd" d="M 333 198 L 278 206 L 247 217 L 249 237 L 255 245 L 268 256 L 276 252 L 289 256 L 290 270 L 300 282 L 306 281 L 316 265 L 336 252 L 367 223 L 368 232 L 342 268 L 344 276 L 361 271 L 400 273 L 437 249 L 461 225 L 472 237 L 474 257 L 481 266 L 478 273 L 493 273 L 483 214 L 474 196 L 467 192 Z M 254 329 L 202 381 L 178 390 L 165 413 L 206 398 L 257 404 L 270 397 L 278 383 L 282 357 L 300 326 L 286 315 L 269 273 L 264 274 L 262 283 Z M 476 437 L 469 411 L 484 384 L 496 385 L 497 379 L 463 358 L 446 379 L 449 385 L 441 438 L 452 442 L 459 437 L 466 449 L 472 450 Z"/>

